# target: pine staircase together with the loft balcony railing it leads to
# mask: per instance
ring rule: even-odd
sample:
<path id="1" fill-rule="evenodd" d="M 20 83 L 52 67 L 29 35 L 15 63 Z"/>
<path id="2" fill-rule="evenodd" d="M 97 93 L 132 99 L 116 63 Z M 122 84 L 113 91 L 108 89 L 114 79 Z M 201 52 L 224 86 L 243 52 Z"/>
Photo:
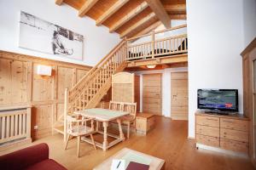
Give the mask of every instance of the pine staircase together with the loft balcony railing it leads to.
<path id="1" fill-rule="evenodd" d="M 187 34 L 157 38 L 156 35 L 186 28 L 186 25 L 172 27 L 164 31 L 152 31 L 139 37 L 124 39 L 113 48 L 71 89 L 65 90 L 64 114 L 53 124 L 53 132 L 62 133 L 66 140 L 66 116 L 96 107 L 111 87 L 113 74 L 125 67 L 142 65 L 173 64 L 188 61 Z M 134 43 L 138 38 L 151 36 L 146 42 Z M 146 38 L 147 39 L 147 38 Z"/>

